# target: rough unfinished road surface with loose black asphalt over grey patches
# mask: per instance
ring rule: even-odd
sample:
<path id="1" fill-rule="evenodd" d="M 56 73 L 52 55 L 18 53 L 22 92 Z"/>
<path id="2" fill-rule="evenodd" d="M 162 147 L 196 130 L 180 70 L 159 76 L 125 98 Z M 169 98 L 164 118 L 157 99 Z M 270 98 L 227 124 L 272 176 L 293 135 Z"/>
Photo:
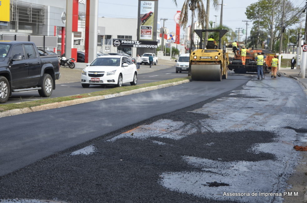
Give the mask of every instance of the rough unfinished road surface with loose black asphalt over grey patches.
<path id="1" fill-rule="evenodd" d="M 144 68 L 145 70 L 147 69 Z M 71 73 L 70 69 L 67 71 Z M 72 71 L 77 72 L 77 70 Z M 180 120 L 180 117 L 175 113 L 148 120 L 146 123 L 136 125 L 116 136 L 110 136 L 109 139 L 96 140 L 84 148 L 65 151 L 64 154 L 40 161 L 37 166 L 29 166 L 13 175 L 0 178 L 0 181 L 3 181 L 3 188 L 1 189 L 0 184 L 0 189 L 6 192 L 7 197 L 11 193 L 15 197 L 27 196 L 31 198 L 29 202 L 35 203 L 47 201 L 33 200 L 34 198 L 53 199 L 51 202 L 64 202 L 60 200 L 99 202 L 95 199 L 95 195 L 105 196 L 105 200 L 108 202 L 127 202 L 137 198 L 143 199 L 138 199 L 136 202 L 153 202 L 154 199 L 150 199 L 150 197 L 154 195 L 154 198 L 157 198 L 156 202 L 163 202 L 164 195 L 167 195 L 167 201 L 170 202 L 179 200 L 176 199 L 179 196 L 178 192 L 181 194 L 182 200 L 190 202 L 197 202 L 202 200 L 201 198 L 209 199 L 210 202 L 281 202 L 283 198 L 283 202 L 287 203 L 302 202 L 304 201 L 302 194 L 305 194 L 304 187 L 306 186 L 304 174 L 307 172 L 306 152 L 294 153 L 292 145 L 297 142 L 295 139 L 298 134 L 301 137 L 306 134 L 303 129 L 300 129 L 301 126 L 306 127 L 306 117 L 299 116 L 299 111 L 306 111 L 306 106 L 296 103 L 296 97 L 306 98 L 306 79 L 297 77 L 299 70 L 286 68 L 281 72 L 284 73 L 283 76 L 297 80 L 304 87 L 305 95 L 299 95 L 299 91 L 291 92 L 291 85 L 295 84 L 294 81 L 286 80 L 287 86 L 282 89 L 278 86 L 280 84 L 276 82 L 269 83 L 269 80 L 274 80 L 269 77 L 265 81 L 251 80 L 243 86 L 243 89 L 232 91 L 228 96 L 191 107 L 184 112 L 186 115 L 191 114 L 191 117 L 187 117 L 188 120 Z M 69 77 L 73 80 L 71 74 Z M 271 88 L 264 88 L 265 86 L 261 82 L 265 85 L 269 84 Z M 275 93 L 274 88 L 282 90 Z M 275 107 L 272 105 L 273 102 Z M 263 103 L 265 107 L 260 109 L 260 104 Z M 229 108 L 223 108 L 223 106 L 229 106 Z M 250 116 L 251 112 L 256 113 Z M 207 116 L 212 119 L 206 119 Z M 288 128 L 281 129 L 279 126 L 288 126 Z M 241 145 L 241 143 L 237 145 L 236 140 L 232 139 L 232 136 L 237 136 L 235 134 L 226 136 L 225 131 L 236 131 L 237 129 L 242 129 L 247 133 L 239 133 L 241 141 L 246 145 Z M 278 137 L 274 137 L 270 131 L 277 133 Z M 209 133 L 210 139 L 203 140 L 203 137 L 199 137 L 201 135 L 199 132 Z M 246 135 L 248 137 L 244 137 Z M 193 139 L 190 139 L 189 136 Z M 221 136 L 226 136 L 227 139 L 221 141 Z M 306 142 L 301 141 L 306 146 Z M 185 153 L 178 154 L 178 147 L 185 147 L 187 143 Z M 123 145 L 125 145 L 124 148 L 122 148 Z M 207 155 L 204 157 L 199 151 L 203 146 L 208 148 Z M 220 153 L 216 150 L 216 146 L 225 146 L 226 150 Z M 242 148 L 238 148 L 239 146 Z M 108 154 L 111 149 L 117 149 L 117 151 Z M 130 150 L 126 151 L 127 149 Z M 238 151 L 233 151 L 234 149 Z M 122 150 L 125 150 L 127 156 Z M 149 153 L 148 150 L 155 151 L 156 153 L 153 155 L 156 154 L 156 157 L 146 156 Z M 235 161 L 237 160 L 236 156 L 241 156 L 246 152 L 247 155 L 244 156 L 244 159 L 242 158 L 245 161 Z M 247 157 L 251 152 L 256 154 L 256 160 Z M 121 156 L 117 156 L 117 153 Z M 296 171 L 292 171 L 291 166 L 295 165 L 299 155 L 303 158 L 299 160 Z M 132 168 L 130 166 L 131 157 L 134 160 Z M 165 168 L 165 163 L 160 159 L 165 159 L 168 166 L 174 165 L 176 168 Z M 104 169 L 103 164 L 92 165 L 92 163 L 100 161 L 102 161 L 101 164 L 111 164 L 112 167 Z M 159 165 L 155 165 L 157 163 Z M 178 163 L 180 163 L 180 167 L 177 166 Z M 68 164 L 73 168 L 67 168 Z M 163 187 L 150 188 L 153 194 L 146 194 L 147 191 L 142 187 L 146 187 L 143 185 L 144 181 L 156 180 L 151 177 L 153 174 L 149 173 L 152 172 L 153 166 L 164 170 L 159 176 L 159 185 Z M 263 166 L 267 166 L 267 168 L 264 169 Z M 77 168 L 82 168 L 82 170 L 79 171 Z M 127 171 L 127 174 L 121 174 L 120 171 L 123 170 Z M 128 172 L 129 170 L 131 172 Z M 148 174 L 145 174 L 147 176 L 141 177 L 143 174 L 139 173 L 140 170 L 147 171 Z M 41 171 L 44 171 L 44 174 L 39 174 Z M 93 174 L 93 171 L 99 171 L 99 173 Z M 267 173 L 267 171 L 271 171 L 271 173 Z M 116 175 L 110 175 L 111 177 L 108 178 L 107 174 L 112 172 L 115 172 Z M 251 197 L 246 194 L 242 195 L 241 199 L 233 199 L 231 196 L 223 195 L 223 192 L 228 194 L 244 191 L 265 193 L 271 192 L 272 188 L 273 192 L 280 192 L 278 187 L 284 187 L 283 181 L 287 179 L 287 175 L 290 176 L 287 181 L 289 187 L 287 191 L 299 192 L 300 197 Z M 88 179 L 83 179 L 84 176 Z M 46 178 L 50 178 L 50 180 L 48 181 Z M 123 180 L 129 179 L 140 185 L 130 188 L 132 185 L 129 182 L 123 182 Z M 87 184 L 89 180 L 91 182 Z M 70 181 L 79 182 L 82 186 L 71 185 Z M 48 183 L 55 185 L 48 185 Z M 211 183 L 216 187 L 211 187 Z M 230 183 L 230 186 L 227 186 L 227 183 Z M 203 187 L 206 188 L 206 194 L 203 193 Z M 53 190 L 46 191 L 50 188 Z M 101 190 L 97 191 L 96 188 Z M 168 191 L 165 191 L 164 188 L 168 188 Z M 14 190 L 16 191 L 14 192 Z M 139 196 L 135 196 L 131 190 L 140 191 Z M 91 197 L 82 199 L 84 191 L 91 194 Z M 23 195 L 25 192 L 26 195 Z M 142 195 L 142 193 L 145 194 Z"/>

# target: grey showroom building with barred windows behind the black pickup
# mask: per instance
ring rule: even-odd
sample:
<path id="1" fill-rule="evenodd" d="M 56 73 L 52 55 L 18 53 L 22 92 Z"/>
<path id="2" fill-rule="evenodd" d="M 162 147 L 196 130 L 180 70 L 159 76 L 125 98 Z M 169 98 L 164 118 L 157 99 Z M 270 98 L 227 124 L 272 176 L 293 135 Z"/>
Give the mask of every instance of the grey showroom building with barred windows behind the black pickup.
<path id="1" fill-rule="evenodd" d="M 0 17 L 0 40 L 2 34 L 58 36 L 58 49 L 55 51 L 61 51 L 61 39 L 66 26 L 66 1 L 9 0 L 9 3 L 9 21 L 3 21 Z M 86 0 L 78 0 L 78 11 L 78 31 L 80 27 L 82 32 L 82 27 L 85 27 Z"/>

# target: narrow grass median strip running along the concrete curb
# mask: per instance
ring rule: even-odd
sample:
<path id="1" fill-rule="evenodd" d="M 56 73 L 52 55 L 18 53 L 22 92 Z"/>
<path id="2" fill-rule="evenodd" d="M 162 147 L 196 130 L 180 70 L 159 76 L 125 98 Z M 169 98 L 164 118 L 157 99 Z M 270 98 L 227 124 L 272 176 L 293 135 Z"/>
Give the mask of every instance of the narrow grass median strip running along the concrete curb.
<path id="1" fill-rule="evenodd" d="M 36 100 L 36 101 L 31 101 L 31 102 L 21 102 L 21 103 L 13 103 L 13 104 L 1 104 L 0 105 L 0 112 L 9 111 L 9 110 L 13 110 L 13 109 L 31 108 L 31 107 L 35 107 L 35 106 L 52 104 L 52 103 L 56 103 L 56 102 L 72 101 L 72 100 L 81 99 L 81 98 L 112 95 L 112 94 L 117 94 L 117 93 L 121 93 L 121 92 L 137 90 L 137 89 L 144 88 L 144 87 L 159 86 L 159 85 L 163 85 L 163 84 L 180 82 L 180 81 L 189 80 L 189 79 L 191 79 L 191 77 L 174 78 L 174 79 L 164 80 L 164 81 L 159 81 L 159 82 L 144 83 L 144 84 L 140 84 L 140 85 L 136 85 L 136 86 L 116 87 L 116 88 L 106 89 L 106 90 L 102 90 L 102 91 L 84 93 L 84 94 L 67 96 L 67 97 L 40 99 L 40 100 Z"/>

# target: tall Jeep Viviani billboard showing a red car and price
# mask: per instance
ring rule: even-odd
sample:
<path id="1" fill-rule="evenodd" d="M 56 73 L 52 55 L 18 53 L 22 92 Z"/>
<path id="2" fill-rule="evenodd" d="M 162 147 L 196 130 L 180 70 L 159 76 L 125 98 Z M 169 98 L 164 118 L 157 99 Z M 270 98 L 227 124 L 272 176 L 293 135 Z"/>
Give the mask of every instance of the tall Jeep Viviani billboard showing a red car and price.
<path id="1" fill-rule="evenodd" d="M 141 1 L 140 39 L 153 40 L 154 1 Z"/>

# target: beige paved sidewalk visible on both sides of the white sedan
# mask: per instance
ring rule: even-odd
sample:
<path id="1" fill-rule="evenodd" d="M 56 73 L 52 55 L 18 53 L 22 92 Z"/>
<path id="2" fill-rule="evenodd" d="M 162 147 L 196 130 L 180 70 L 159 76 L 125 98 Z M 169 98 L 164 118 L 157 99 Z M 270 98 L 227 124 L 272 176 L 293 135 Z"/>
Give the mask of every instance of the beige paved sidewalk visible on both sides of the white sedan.
<path id="1" fill-rule="evenodd" d="M 176 65 L 175 61 L 167 61 L 163 59 L 158 59 L 157 65 L 152 65 L 149 68 L 149 65 L 140 65 L 140 69 L 138 70 L 138 74 L 153 72 L 165 68 L 170 68 Z M 86 67 L 86 63 L 76 63 L 74 69 L 60 67 L 61 77 L 59 80 L 56 80 L 56 84 L 63 84 L 69 82 L 80 82 L 81 81 L 81 71 Z M 175 72 L 174 67 L 174 72 Z"/>

